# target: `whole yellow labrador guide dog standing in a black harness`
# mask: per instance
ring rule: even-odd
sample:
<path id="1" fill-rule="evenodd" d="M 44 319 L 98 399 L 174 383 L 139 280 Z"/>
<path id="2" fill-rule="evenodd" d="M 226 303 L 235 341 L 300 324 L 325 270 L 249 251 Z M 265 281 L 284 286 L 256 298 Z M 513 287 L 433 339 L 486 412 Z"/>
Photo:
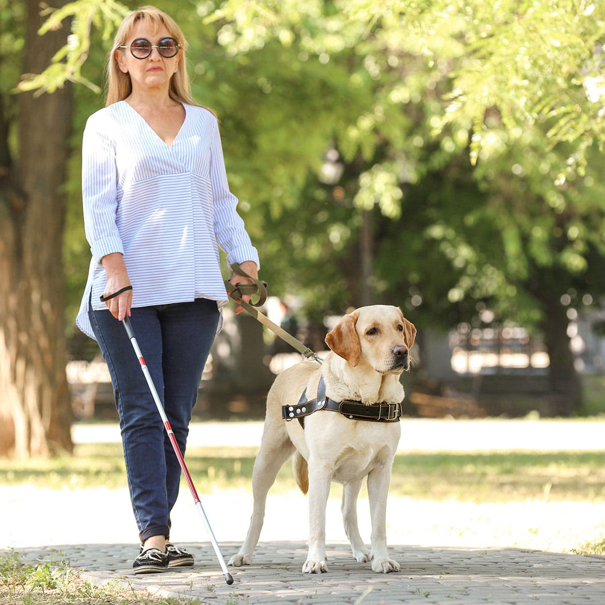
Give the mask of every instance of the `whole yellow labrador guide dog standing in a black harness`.
<path id="1" fill-rule="evenodd" d="M 409 350 L 415 336 L 416 328 L 397 307 L 361 307 L 345 315 L 326 336 L 331 352 L 321 368 L 315 362 L 302 362 L 275 379 L 267 396 L 263 439 L 252 473 L 250 528 L 230 565 L 251 563 L 267 492 L 283 463 L 294 454 L 296 482 L 304 493 L 309 492 L 309 554 L 302 572 L 327 571 L 325 507 L 332 481 L 344 485 L 342 517 L 356 560 L 371 561 L 372 569 L 383 574 L 401 571 L 387 551 L 387 493 L 401 433 L 399 403 L 404 389 L 399 376 L 410 368 Z M 321 377 L 325 393 L 319 385 Z M 304 427 L 299 418 L 304 419 Z M 370 500 L 371 551 L 365 548 L 357 524 L 357 497 L 364 477 Z M 284 523 L 288 522 L 284 514 Z"/>

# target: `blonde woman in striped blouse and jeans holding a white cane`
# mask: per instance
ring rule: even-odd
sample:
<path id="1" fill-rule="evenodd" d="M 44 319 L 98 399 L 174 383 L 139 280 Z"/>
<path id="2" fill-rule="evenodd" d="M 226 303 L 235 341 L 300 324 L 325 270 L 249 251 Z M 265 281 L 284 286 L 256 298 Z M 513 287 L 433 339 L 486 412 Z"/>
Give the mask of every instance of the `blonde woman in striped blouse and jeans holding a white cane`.
<path id="1" fill-rule="evenodd" d="M 93 258 L 77 325 L 99 342 L 113 382 L 141 541 L 134 572 L 192 565 L 169 541 L 180 466 L 121 321 L 131 318 L 184 454 L 227 301 L 217 242 L 248 275 L 259 261 L 229 191 L 217 118 L 189 92 L 183 33 L 157 8 L 132 11 L 117 30 L 106 106 L 83 135 L 82 197 Z"/>

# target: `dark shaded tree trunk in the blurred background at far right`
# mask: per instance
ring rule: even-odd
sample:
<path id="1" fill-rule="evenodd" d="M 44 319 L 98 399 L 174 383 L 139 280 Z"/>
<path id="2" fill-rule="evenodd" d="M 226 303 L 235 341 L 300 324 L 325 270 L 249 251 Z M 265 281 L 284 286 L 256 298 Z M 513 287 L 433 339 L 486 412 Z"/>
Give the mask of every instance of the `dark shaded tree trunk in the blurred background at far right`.
<path id="1" fill-rule="evenodd" d="M 553 416 L 571 416 L 582 403 L 580 376 L 575 370 L 574 354 L 567 336 L 567 314 L 557 296 L 543 298 L 543 332 L 550 359 L 548 378 Z"/>

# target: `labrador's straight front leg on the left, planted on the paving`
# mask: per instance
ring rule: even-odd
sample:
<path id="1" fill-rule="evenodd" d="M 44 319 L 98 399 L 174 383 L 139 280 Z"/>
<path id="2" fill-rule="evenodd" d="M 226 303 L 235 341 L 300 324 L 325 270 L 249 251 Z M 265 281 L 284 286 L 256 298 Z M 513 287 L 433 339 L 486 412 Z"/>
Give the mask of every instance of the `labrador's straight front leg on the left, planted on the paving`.
<path id="1" fill-rule="evenodd" d="M 325 507 L 331 480 L 332 471 L 325 464 L 309 460 L 309 553 L 302 566 L 303 574 L 328 571 L 325 564 Z"/>

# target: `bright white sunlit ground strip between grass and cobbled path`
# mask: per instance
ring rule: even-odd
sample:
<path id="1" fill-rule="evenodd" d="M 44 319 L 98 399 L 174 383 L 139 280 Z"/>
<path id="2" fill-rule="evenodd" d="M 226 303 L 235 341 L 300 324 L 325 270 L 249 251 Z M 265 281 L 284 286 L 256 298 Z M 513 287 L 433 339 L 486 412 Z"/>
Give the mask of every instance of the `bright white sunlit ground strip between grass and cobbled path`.
<path id="1" fill-rule="evenodd" d="M 326 539 L 346 541 L 339 486 L 327 507 Z M 335 493 L 334 493 L 335 492 Z M 224 490 L 201 497 L 219 541 L 243 541 L 252 512 L 246 490 Z M 137 535 L 125 488 L 54 491 L 32 486 L 0 486 L 0 501 L 11 523 L 0 528 L 0 548 L 82 543 L 136 544 Z M 299 492 L 269 494 L 261 541 L 306 540 L 308 502 Z M 362 537 L 370 539 L 367 499 L 358 503 Z M 295 522 L 293 522 L 293 520 Z M 172 515 L 172 539 L 206 541 L 191 494 L 181 490 Z M 390 497 L 387 537 L 391 545 L 507 547 L 568 552 L 605 535 L 605 503 L 590 502 L 433 502 Z"/>

